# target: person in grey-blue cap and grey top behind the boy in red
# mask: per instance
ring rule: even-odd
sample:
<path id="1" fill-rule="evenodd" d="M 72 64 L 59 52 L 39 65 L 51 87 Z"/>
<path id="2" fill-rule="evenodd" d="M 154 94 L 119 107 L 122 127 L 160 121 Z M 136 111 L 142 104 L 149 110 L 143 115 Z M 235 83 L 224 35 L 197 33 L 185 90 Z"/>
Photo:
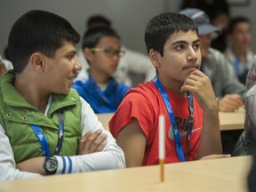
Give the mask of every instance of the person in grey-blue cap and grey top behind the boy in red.
<path id="1" fill-rule="evenodd" d="M 201 70 L 209 76 L 213 91 L 218 99 L 220 111 L 232 112 L 244 106 L 246 89 L 236 77 L 235 71 L 218 50 L 212 49 L 211 36 L 216 32 L 205 12 L 188 8 L 180 11 L 196 22 L 200 39 L 200 51 L 202 54 Z"/>

